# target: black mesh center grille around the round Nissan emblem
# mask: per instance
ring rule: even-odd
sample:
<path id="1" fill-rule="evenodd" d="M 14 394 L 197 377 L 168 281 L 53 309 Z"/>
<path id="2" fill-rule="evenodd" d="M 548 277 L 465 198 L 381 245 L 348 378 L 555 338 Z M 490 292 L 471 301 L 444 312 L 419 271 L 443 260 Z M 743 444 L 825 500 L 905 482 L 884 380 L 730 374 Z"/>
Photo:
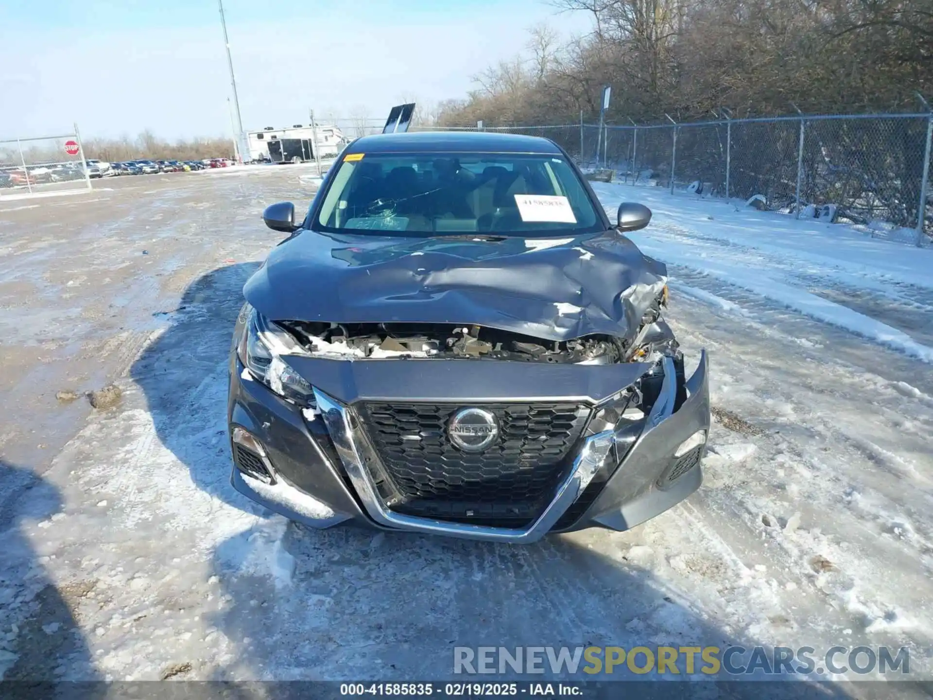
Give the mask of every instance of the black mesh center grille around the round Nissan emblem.
<path id="1" fill-rule="evenodd" d="M 589 409 L 577 403 L 481 405 L 499 437 L 480 453 L 449 440 L 463 404 L 367 403 L 360 414 L 393 494 L 393 511 L 477 525 L 522 526 L 550 503 Z M 379 476 L 379 475 L 374 475 Z"/>

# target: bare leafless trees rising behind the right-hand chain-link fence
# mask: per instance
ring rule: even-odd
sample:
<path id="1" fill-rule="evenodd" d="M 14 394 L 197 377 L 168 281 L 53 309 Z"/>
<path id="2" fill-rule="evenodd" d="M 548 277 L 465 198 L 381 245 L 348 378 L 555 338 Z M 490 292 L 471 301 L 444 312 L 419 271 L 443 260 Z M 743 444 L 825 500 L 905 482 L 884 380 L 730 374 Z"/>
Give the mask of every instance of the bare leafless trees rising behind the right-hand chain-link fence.
<path id="1" fill-rule="evenodd" d="M 525 53 L 474 78 L 466 100 L 439 105 L 464 125 L 915 108 L 933 94 L 931 0 L 551 0 L 592 31 L 561 45 L 546 25 Z"/>

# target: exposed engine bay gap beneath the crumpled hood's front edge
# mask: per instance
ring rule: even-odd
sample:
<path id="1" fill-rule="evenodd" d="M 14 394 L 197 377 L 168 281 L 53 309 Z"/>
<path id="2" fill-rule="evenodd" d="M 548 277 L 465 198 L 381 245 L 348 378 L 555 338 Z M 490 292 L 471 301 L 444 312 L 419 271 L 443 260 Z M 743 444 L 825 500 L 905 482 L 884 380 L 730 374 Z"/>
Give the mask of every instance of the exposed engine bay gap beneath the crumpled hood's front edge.
<path id="1" fill-rule="evenodd" d="M 661 318 L 661 293 L 641 319 L 634 339 L 593 334 L 550 341 L 488 326 L 439 323 L 328 323 L 278 321 L 312 355 L 341 358 L 442 357 L 605 365 L 650 362 L 675 354 L 677 343 Z"/>

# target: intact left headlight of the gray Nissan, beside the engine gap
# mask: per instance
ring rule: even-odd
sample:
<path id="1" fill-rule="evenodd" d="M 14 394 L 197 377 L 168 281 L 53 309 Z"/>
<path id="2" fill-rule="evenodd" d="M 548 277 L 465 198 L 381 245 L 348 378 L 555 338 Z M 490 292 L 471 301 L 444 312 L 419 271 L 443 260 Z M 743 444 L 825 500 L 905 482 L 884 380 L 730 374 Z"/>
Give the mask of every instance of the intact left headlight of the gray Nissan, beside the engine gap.
<path id="1" fill-rule="evenodd" d="M 245 368 L 259 382 L 283 399 L 302 407 L 312 406 L 314 391 L 288 364 L 286 357 L 308 355 L 284 329 L 250 310 L 239 356 Z"/>

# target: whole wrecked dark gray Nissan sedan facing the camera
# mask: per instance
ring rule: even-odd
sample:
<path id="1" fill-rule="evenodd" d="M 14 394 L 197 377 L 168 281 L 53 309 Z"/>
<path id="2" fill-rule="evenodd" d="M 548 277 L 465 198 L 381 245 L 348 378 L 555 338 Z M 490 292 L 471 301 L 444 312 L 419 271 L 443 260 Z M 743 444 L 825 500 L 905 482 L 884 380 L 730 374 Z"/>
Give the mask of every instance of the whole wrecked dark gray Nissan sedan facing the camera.
<path id="1" fill-rule="evenodd" d="M 299 225 L 289 207 L 230 356 L 244 495 L 312 527 L 531 542 L 699 487 L 706 357 L 686 377 L 666 270 L 623 235 L 650 212 L 611 225 L 559 147 L 367 137 Z"/>

